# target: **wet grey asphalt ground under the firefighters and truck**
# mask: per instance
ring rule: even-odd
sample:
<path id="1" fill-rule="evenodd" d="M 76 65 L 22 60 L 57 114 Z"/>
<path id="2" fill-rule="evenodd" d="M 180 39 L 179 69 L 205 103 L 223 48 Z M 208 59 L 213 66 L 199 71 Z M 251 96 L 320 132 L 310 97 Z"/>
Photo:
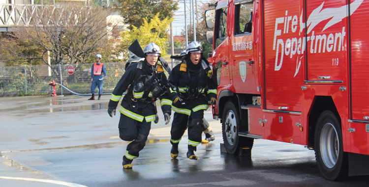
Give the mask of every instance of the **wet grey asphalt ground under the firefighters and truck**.
<path id="1" fill-rule="evenodd" d="M 257 139 L 252 158 L 220 153 L 221 125 L 205 112 L 216 139 L 201 144 L 199 160 L 170 158 L 170 125 L 160 121 L 133 169 L 122 168 L 127 142 L 118 137 L 119 114 L 107 114 L 110 96 L 0 98 L 1 187 L 367 187 L 368 177 L 330 182 L 304 146 Z M 204 136 L 204 135 L 203 135 Z"/>

